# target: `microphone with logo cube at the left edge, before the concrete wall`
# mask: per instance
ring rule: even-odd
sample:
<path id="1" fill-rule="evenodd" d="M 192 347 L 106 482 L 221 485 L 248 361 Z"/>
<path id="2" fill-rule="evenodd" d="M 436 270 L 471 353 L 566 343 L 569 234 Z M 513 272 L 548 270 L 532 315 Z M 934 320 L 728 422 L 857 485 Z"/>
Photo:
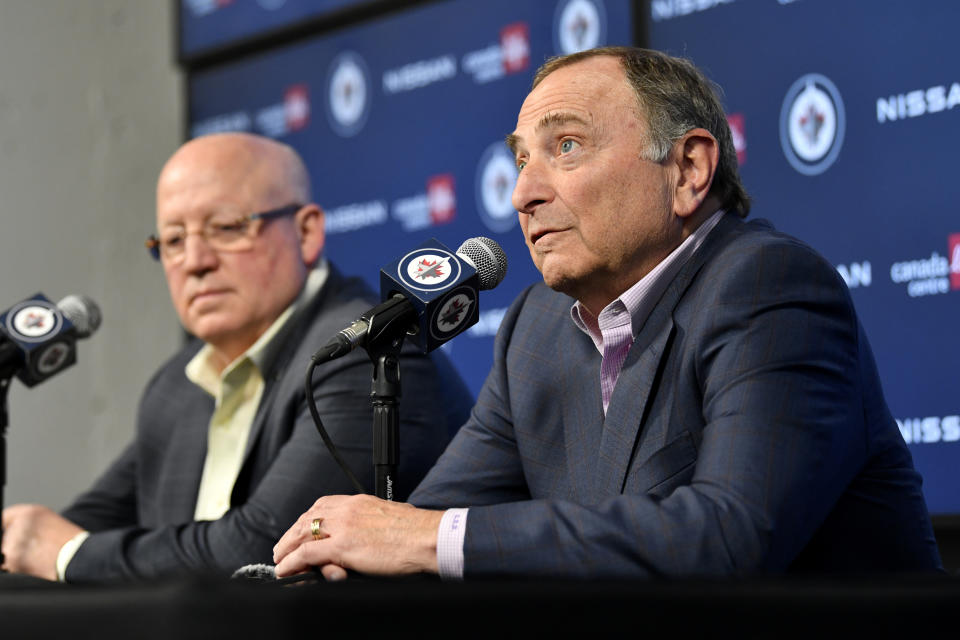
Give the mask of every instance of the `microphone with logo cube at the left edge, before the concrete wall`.
<path id="1" fill-rule="evenodd" d="M 33 387 L 77 361 L 76 341 L 100 326 L 100 308 L 85 296 L 56 305 L 42 293 L 0 314 L 0 380 Z"/>

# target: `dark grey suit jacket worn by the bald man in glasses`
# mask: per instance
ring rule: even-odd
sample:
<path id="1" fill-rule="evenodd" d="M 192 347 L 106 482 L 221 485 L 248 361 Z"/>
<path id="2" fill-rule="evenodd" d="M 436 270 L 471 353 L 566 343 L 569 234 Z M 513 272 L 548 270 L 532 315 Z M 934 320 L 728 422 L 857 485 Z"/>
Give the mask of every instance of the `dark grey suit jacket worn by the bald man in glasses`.
<path id="1" fill-rule="evenodd" d="M 282 347 L 263 372 L 257 409 L 231 508 L 194 522 L 213 400 L 184 375 L 194 341 L 147 385 L 132 444 L 64 511 L 92 532 L 67 567 L 69 582 L 150 578 L 180 572 L 232 572 L 271 563 L 276 541 L 314 500 L 353 493 L 318 435 L 303 392 L 311 354 L 375 304 L 359 280 L 335 269 L 316 298 L 292 317 Z M 324 426 L 351 469 L 373 490 L 372 364 L 362 349 L 321 365 L 314 397 Z M 449 362 L 411 347 L 401 363 L 401 460 L 406 496 L 466 418 L 472 397 Z"/>

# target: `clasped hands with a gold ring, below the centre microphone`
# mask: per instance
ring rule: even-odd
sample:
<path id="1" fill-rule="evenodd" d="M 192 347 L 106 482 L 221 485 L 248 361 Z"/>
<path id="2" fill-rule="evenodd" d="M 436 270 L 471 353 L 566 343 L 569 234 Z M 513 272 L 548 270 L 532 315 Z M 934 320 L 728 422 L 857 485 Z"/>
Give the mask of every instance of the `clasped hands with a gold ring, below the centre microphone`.
<path id="1" fill-rule="evenodd" d="M 324 496 L 273 548 L 277 577 L 311 567 L 319 567 L 327 580 L 343 580 L 346 569 L 370 575 L 437 573 L 442 517 L 442 511 L 369 495 Z M 317 536 L 315 519 L 320 520 Z"/>

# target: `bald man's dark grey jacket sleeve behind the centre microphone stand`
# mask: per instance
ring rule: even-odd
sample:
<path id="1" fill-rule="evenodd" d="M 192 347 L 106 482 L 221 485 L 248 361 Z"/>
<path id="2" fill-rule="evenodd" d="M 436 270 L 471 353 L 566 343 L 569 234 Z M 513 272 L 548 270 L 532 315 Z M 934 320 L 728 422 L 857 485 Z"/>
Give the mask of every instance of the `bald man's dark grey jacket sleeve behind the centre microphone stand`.
<path id="1" fill-rule="evenodd" d="M 297 362 L 297 365 L 300 363 Z M 403 360 L 405 390 L 401 401 L 403 429 L 417 459 L 402 468 L 411 483 L 422 477 L 427 465 L 442 451 L 449 437 L 447 426 L 425 409 L 427 397 L 436 397 L 434 368 L 429 358 L 411 355 Z M 302 388 L 303 374 L 295 377 Z M 305 369 L 305 365 L 304 365 Z M 293 374 L 291 374 L 293 375 Z M 371 364 L 362 351 L 318 367 L 313 377 L 314 397 L 324 426 L 341 455 L 368 488 L 372 488 L 371 424 L 369 398 Z M 419 389 L 419 391 L 416 391 Z M 252 563 L 272 563 L 273 545 L 296 518 L 324 494 L 350 494 L 355 489 L 332 459 L 317 434 L 303 392 L 295 394 L 289 408 L 271 413 L 277 424 L 266 425 L 261 438 L 276 438 L 277 447 L 268 468 L 254 484 L 249 498 L 219 520 L 184 522 L 154 528 L 124 523 L 93 533 L 67 567 L 68 582 L 147 579 L 179 573 L 231 573 Z M 462 404 L 462 403 L 461 403 Z M 404 408 L 410 407 L 404 413 Z M 465 414 L 460 414 L 461 416 Z M 427 430 L 430 430 L 428 433 Z M 432 443 L 433 453 L 422 441 Z M 404 448 L 404 454 L 408 448 Z M 237 482 L 248 479 L 238 478 Z M 407 490 L 409 491 L 409 489 Z M 102 496 L 109 502 L 109 496 Z"/>

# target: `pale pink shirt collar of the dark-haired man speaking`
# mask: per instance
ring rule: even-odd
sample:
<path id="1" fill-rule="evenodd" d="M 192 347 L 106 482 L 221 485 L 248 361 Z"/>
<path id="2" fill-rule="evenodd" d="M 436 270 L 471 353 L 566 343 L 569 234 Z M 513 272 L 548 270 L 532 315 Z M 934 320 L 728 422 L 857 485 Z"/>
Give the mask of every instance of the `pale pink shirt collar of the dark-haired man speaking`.
<path id="1" fill-rule="evenodd" d="M 577 300 L 570 307 L 570 318 L 578 329 L 590 336 L 593 343 L 603 353 L 603 338 L 601 329 L 608 324 L 623 322 L 624 311 L 629 313 L 633 337 L 643 328 L 644 323 L 656 306 L 660 296 L 667 289 L 670 281 L 677 275 L 681 267 L 693 257 L 700 248 L 707 235 L 717 226 L 724 214 L 723 209 L 715 211 L 703 224 L 680 243 L 676 249 L 660 261 L 650 273 L 642 277 L 636 284 L 620 294 L 620 297 L 608 304 L 596 318 Z"/>

